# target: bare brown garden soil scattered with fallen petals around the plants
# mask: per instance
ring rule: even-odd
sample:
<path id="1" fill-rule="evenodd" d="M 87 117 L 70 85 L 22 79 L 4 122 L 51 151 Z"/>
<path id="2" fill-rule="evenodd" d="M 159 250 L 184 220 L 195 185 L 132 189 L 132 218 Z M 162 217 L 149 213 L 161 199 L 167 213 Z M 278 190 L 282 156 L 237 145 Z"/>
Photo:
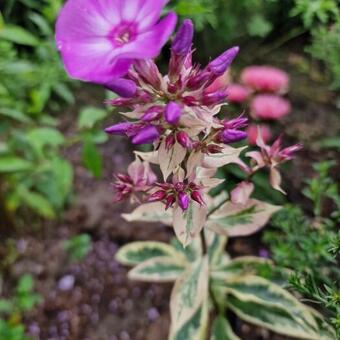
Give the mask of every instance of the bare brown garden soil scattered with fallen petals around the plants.
<path id="1" fill-rule="evenodd" d="M 335 135 L 340 117 L 329 104 L 331 97 L 328 100 L 315 97 L 317 104 L 309 101 L 315 94 L 304 92 L 306 82 L 303 77 L 292 82 L 295 109 L 286 120 L 289 138 L 298 140 L 302 137 L 307 143 L 284 176 L 289 200 L 293 202 L 301 202 L 302 196 L 296 189 L 312 175 L 313 162 L 336 157 L 339 161 L 339 155 L 319 150 L 313 140 Z M 76 94 L 77 107 L 98 103 L 97 92 L 90 90 L 89 95 L 88 91 L 80 90 Z M 90 103 L 88 98 L 91 98 Z M 65 114 L 61 128 L 68 134 L 72 133 L 77 107 Z M 47 223 L 34 233 L 17 235 L 19 258 L 5 277 L 4 291 L 9 292 L 10 284 L 21 274 L 34 275 L 44 303 L 27 317 L 25 324 L 35 339 L 159 340 L 168 334 L 171 285 L 131 282 L 126 277 L 127 269 L 113 258 L 123 244 L 149 239 L 167 242 L 173 236 L 172 231 L 161 225 L 128 224 L 120 217 L 131 207 L 125 203 L 113 204 L 110 180 L 112 172 L 126 169 L 131 157 L 130 147 L 124 139 L 111 138 L 102 147 L 102 152 L 105 159 L 103 179 L 94 180 L 80 164 L 79 147 L 68 150 L 67 157 L 75 165 L 74 204 L 58 222 Z M 338 178 L 339 173 L 335 171 Z M 88 233 L 93 240 L 93 249 L 84 261 L 72 264 L 62 241 L 77 233 Z M 261 247 L 260 235 L 235 240 L 229 247 L 234 255 L 257 255 Z M 242 339 L 282 339 L 267 331 L 240 325 L 237 320 L 234 324 Z"/>

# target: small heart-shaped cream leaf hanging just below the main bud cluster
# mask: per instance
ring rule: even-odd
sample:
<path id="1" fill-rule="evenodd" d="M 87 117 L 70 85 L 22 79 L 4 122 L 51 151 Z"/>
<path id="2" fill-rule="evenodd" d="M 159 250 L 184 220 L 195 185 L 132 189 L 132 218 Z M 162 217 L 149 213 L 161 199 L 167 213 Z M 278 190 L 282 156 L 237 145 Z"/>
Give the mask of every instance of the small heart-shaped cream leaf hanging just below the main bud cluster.
<path id="1" fill-rule="evenodd" d="M 164 180 L 183 162 L 187 150 L 177 142 L 170 150 L 166 149 L 165 139 L 163 139 L 158 150 L 158 161 L 161 168 Z"/>

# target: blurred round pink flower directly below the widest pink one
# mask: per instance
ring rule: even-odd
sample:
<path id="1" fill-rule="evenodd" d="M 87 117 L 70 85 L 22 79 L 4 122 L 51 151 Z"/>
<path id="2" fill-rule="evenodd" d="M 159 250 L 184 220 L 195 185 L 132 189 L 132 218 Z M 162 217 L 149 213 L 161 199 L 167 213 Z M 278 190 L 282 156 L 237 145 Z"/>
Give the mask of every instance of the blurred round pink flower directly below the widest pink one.
<path id="1" fill-rule="evenodd" d="M 250 104 L 254 118 L 277 120 L 286 116 L 291 106 L 288 100 L 273 94 L 260 94 Z"/>

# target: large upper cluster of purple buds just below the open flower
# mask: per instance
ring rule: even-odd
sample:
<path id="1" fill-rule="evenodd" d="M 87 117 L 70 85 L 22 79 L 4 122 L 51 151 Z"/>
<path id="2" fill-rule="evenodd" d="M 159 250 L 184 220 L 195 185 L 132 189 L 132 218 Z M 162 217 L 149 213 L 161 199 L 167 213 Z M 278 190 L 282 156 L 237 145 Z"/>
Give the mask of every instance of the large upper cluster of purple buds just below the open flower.
<path id="1" fill-rule="evenodd" d="M 226 102 L 227 86 L 210 87 L 229 68 L 239 49 L 233 47 L 200 68 L 192 63 L 193 30 L 192 22 L 185 20 L 173 41 L 166 76 L 160 74 L 153 60 L 135 62 L 126 77 L 129 86 L 125 93 L 121 91 L 128 98 L 110 102 L 130 108 L 125 115 L 133 122 L 113 125 L 106 129 L 107 133 L 125 134 L 134 144 L 159 141 L 166 133 L 167 148 L 178 142 L 187 149 L 195 145 L 200 133 L 224 143 L 245 138 L 238 130 L 244 125 L 229 124 L 216 117 Z"/>

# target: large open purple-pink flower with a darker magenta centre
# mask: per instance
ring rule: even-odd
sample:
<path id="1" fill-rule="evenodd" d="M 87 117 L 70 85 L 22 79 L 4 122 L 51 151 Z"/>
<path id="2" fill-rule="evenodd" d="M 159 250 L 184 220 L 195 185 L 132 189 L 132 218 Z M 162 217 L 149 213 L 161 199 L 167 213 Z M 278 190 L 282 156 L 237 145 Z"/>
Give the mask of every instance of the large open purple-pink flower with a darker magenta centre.
<path id="1" fill-rule="evenodd" d="M 167 0 L 68 0 L 56 42 L 72 78 L 107 84 L 126 75 L 135 59 L 156 57 L 176 24 L 158 21 Z"/>

